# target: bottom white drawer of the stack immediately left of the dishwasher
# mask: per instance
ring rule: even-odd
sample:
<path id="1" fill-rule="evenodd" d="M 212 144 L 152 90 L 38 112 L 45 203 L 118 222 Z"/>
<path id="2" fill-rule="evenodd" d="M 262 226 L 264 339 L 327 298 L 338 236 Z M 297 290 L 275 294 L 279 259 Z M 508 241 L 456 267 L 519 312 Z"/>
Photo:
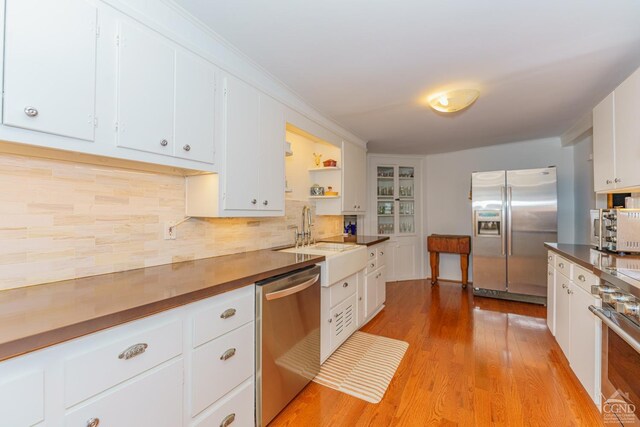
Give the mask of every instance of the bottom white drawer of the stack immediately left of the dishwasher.
<path id="1" fill-rule="evenodd" d="M 253 427 L 254 420 L 253 378 L 220 399 L 203 414 L 194 427 Z"/>

